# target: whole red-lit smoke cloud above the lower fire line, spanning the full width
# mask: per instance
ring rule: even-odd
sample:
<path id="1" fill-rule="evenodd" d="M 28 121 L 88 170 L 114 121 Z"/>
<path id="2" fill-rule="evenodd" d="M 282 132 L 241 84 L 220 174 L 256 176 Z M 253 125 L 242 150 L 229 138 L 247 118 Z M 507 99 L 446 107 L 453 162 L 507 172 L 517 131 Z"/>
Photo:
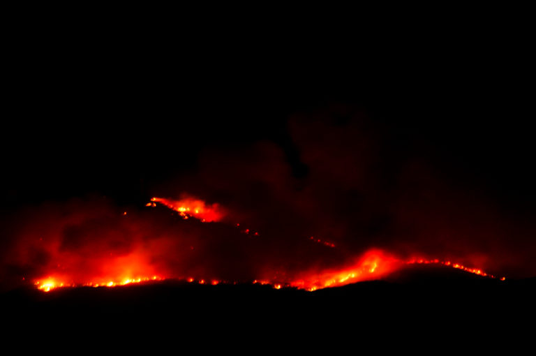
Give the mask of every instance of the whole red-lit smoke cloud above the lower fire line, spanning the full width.
<path id="1" fill-rule="evenodd" d="M 1 224 L 2 280 L 290 280 L 343 267 L 370 249 L 536 274 L 530 219 L 399 146 L 389 129 L 356 112 L 341 119 L 327 110 L 292 117 L 287 132 L 298 162 L 271 140 L 211 147 L 194 170 L 151 187 L 154 196 L 187 193 L 217 203 L 225 209 L 218 222 L 97 197 L 13 212 Z M 305 173 L 297 175 L 295 165 Z"/>

